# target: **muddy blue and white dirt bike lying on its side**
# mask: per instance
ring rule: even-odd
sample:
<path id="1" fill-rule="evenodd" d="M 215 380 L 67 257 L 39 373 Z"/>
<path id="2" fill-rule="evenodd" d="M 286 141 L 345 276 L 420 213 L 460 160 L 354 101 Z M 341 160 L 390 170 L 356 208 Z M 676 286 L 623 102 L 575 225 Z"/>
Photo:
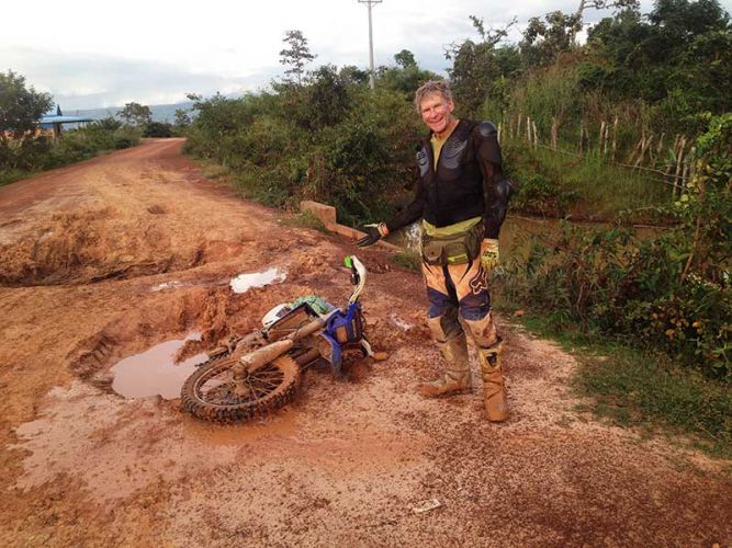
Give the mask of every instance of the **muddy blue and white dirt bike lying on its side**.
<path id="1" fill-rule="evenodd" d="M 359 301 L 367 270 L 353 255 L 345 263 L 353 285 L 346 307 L 314 296 L 278 305 L 262 319 L 263 329 L 235 336 L 209 354 L 183 384 L 182 408 L 207 421 L 249 420 L 289 403 L 301 373 L 320 359 L 339 377 L 348 353 L 378 358 L 363 334 Z"/>

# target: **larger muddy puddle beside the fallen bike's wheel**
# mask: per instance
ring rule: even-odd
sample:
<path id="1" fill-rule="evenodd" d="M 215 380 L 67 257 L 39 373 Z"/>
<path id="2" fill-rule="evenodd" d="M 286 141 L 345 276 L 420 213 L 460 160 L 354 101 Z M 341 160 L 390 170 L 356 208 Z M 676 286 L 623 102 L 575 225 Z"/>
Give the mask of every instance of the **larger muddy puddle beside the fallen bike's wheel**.
<path id="1" fill-rule="evenodd" d="M 185 379 L 195 370 L 196 364 L 205 362 L 209 356 L 201 353 L 176 364 L 176 353 L 187 341 L 200 339 L 200 333 L 193 333 L 185 339 L 166 341 L 140 354 L 125 357 L 112 367 L 112 389 L 125 398 L 158 395 L 166 400 L 179 398 Z"/>

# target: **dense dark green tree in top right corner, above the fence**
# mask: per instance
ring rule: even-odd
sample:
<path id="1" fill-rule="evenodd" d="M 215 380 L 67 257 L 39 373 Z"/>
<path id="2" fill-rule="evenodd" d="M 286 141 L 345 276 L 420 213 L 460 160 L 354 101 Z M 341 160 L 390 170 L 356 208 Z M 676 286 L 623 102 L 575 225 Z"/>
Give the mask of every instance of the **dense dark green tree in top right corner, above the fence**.
<path id="1" fill-rule="evenodd" d="M 663 101 L 667 121 L 732 105 L 732 28 L 717 0 L 656 0 L 645 18 L 623 10 L 589 30 L 587 52 L 585 88 Z"/>

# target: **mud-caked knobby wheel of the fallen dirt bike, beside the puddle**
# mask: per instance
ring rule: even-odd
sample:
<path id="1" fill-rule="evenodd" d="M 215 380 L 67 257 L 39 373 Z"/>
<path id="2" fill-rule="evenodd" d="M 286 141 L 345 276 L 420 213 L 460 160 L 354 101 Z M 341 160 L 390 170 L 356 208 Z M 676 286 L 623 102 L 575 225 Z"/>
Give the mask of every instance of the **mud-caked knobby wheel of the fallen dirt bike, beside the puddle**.
<path id="1" fill-rule="evenodd" d="M 244 379 L 234 378 L 236 359 L 227 353 L 199 367 L 183 384 L 182 408 L 199 419 L 228 423 L 268 414 L 292 401 L 300 383 L 293 358 L 280 356 Z"/>

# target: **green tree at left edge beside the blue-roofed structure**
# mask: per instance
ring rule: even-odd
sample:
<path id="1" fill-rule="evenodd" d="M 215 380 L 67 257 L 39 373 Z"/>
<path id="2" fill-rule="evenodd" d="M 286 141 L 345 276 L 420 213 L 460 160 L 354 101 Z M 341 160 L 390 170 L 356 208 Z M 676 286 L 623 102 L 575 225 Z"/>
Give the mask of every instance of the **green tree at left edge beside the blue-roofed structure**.
<path id="1" fill-rule="evenodd" d="M 49 93 L 26 87 L 25 78 L 12 70 L 0 72 L 0 141 L 31 134 L 52 106 Z"/>

